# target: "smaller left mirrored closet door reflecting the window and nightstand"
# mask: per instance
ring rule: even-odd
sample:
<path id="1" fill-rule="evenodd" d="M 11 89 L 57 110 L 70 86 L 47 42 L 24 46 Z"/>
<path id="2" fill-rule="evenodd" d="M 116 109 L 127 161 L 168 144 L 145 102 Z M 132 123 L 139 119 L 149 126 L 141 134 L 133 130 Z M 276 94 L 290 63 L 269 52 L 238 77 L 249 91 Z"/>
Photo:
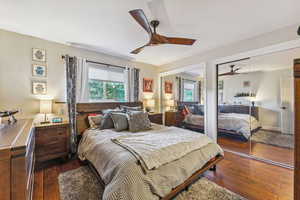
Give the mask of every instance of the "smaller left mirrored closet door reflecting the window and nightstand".
<path id="1" fill-rule="evenodd" d="M 203 70 L 186 70 L 161 78 L 161 110 L 165 125 L 204 133 Z"/>

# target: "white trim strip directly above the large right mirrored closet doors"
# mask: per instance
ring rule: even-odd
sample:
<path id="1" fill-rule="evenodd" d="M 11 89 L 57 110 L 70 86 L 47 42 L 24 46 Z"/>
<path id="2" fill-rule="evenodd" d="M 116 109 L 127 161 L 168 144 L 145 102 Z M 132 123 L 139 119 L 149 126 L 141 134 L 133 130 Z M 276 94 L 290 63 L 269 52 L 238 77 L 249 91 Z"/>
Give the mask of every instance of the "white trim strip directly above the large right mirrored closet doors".
<path id="1" fill-rule="evenodd" d="M 275 45 L 255 49 L 255 50 L 250 50 L 243 53 L 238 53 L 232 56 L 218 58 L 214 60 L 214 63 L 217 65 L 220 63 L 230 62 L 233 60 L 239 60 L 239 59 L 249 58 L 249 57 L 251 58 L 255 56 L 262 56 L 262 55 L 271 54 L 279 51 L 285 51 L 285 50 L 294 49 L 298 47 L 300 47 L 300 39 L 291 40 L 288 42 L 282 42 L 279 44 L 275 44 Z"/>

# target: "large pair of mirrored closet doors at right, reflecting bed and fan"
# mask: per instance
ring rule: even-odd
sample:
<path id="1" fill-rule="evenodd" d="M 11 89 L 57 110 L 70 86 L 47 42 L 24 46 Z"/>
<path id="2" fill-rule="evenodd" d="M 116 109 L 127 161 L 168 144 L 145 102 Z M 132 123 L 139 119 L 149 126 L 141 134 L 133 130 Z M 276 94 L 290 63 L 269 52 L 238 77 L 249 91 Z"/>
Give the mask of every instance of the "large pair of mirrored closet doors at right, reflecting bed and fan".
<path id="1" fill-rule="evenodd" d="M 294 165 L 293 60 L 300 49 L 218 65 L 218 143 Z"/>

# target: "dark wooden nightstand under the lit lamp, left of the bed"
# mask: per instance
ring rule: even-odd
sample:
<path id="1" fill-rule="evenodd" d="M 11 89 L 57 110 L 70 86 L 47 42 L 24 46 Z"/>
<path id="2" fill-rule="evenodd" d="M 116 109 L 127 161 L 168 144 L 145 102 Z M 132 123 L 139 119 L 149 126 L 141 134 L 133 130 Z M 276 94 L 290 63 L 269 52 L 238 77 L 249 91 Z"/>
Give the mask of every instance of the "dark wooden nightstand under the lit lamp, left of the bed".
<path id="1" fill-rule="evenodd" d="M 35 125 L 35 155 L 37 163 L 69 155 L 69 123 L 49 123 Z"/>

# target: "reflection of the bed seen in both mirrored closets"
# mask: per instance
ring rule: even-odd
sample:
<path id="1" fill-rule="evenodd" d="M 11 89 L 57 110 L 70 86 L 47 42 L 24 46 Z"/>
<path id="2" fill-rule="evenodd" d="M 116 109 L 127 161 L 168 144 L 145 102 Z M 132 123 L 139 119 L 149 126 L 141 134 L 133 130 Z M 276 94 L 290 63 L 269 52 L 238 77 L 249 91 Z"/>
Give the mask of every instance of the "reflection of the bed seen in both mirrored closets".
<path id="1" fill-rule="evenodd" d="M 182 122 L 187 129 L 204 131 L 204 106 L 197 102 L 178 102 L 178 111 L 187 106 L 192 112 Z M 259 123 L 258 108 L 244 105 L 219 105 L 218 135 L 248 141 L 257 132 Z M 251 109 L 251 114 L 249 111 Z"/>

